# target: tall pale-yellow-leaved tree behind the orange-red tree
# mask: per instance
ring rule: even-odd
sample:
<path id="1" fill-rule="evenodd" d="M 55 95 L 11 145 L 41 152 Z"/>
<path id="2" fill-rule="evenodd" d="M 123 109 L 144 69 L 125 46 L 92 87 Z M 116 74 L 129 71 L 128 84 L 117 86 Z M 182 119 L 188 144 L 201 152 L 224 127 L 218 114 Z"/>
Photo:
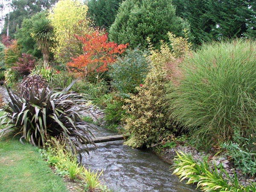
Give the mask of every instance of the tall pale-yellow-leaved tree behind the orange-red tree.
<path id="1" fill-rule="evenodd" d="M 49 20 L 55 32 L 52 52 L 58 62 L 68 62 L 70 57 L 81 54 L 80 42 L 74 35 L 83 35 L 90 31 L 87 11 L 88 7 L 79 0 L 59 0 L 50 11 Z"/>

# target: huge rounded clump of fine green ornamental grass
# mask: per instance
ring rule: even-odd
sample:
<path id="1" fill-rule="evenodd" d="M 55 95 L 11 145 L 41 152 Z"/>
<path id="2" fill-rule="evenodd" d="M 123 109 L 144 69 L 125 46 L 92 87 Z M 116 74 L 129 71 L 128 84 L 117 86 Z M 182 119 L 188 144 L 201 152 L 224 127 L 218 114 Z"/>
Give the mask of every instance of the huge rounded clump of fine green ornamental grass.
<path id="1" fill-rule="evenodd" d="M 166 92 L 169 117 L 198 143 L 218 145 L 255 133 L 256 43 L 248 40 L 202 46 L 180 65 Z M 205 145 L 204 145 L 205 146 Z"/>

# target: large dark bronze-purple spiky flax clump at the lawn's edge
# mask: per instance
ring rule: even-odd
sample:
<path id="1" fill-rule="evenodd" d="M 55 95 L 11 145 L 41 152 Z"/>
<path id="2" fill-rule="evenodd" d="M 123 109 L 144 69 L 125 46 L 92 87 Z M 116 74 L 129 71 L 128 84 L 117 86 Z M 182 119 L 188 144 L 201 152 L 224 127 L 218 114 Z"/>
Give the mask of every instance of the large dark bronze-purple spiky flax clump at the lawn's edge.
<path id="1" fill-rule="evenodd" d="M 20 141 L 24 138 L 38 146 L 44 145 L 45 134 L 61 135 L 73 151 L 76 147 L 87 151 L 82 143 L 93 142 L 90 129 L 94 126 L 81 120 L 79 113 L 84 109 L 79 104 L 85 101 L 80 94 L 68 92 L 72 84 L 60 91 L 41 89 L 38 97 L 28 87 L 29 100 L 12 93 L 6 86 L 11 101 L 4 111 L 12 124 L 1 129 L 0 135 L 20 135 Z"/>

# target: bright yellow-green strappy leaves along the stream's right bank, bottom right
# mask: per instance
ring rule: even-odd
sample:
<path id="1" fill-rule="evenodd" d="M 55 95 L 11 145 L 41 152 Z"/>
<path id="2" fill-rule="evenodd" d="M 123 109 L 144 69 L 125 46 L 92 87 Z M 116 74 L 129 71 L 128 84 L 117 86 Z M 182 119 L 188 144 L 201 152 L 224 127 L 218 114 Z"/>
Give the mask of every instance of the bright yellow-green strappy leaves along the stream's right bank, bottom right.
<path id="1" fill-rule="evenodd" d="M 235 174 L 235 178 L 231 178 L 223 169 L 218 172 L 215 166 L 212 170 L 206 162 L 195 162 L 191 155 L 176 153 L 173 174 L 177 175 L 180 181 L 186 180 L 187 184 L 197 184 L 197 187 L 205 192 L 255 192 L 255 183 L 246 187 L 241 186 Z M 223 174 L 227 178 L 223 178 Z"/>

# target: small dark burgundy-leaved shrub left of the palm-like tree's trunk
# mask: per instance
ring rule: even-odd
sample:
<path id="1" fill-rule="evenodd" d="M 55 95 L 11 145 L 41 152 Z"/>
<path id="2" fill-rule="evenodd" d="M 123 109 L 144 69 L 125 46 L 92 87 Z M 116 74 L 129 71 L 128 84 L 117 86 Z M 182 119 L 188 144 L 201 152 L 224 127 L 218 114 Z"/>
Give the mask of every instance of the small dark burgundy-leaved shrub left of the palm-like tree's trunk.
<path id="1" fill-rule="evenodd" d="M 12 69 L 17 70 L 20 75 L 29 75 L 31 70 L 35 67 L 35 58 L 31 54 L 23 53 L 21 58 L 18 58 L 16 66 Z"/>

